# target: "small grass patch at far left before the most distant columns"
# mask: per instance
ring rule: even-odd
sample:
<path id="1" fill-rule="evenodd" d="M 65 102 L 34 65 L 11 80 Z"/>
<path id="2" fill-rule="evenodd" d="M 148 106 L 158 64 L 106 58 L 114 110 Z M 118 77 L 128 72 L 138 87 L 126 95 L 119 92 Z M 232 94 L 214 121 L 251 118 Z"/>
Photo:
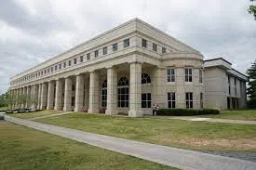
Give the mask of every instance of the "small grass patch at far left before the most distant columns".
<path id="1" fill-rule="evenodd" d="M 22 112 L 22 113 L 10 113 L 9 116 L 21 118 L 21 119 L 30 119 L 39 116 L 45 116 L 50 114 L 60 113 L 61 111 L 46 110 L 46 111 L 36 111 L 36 112 Z"/>

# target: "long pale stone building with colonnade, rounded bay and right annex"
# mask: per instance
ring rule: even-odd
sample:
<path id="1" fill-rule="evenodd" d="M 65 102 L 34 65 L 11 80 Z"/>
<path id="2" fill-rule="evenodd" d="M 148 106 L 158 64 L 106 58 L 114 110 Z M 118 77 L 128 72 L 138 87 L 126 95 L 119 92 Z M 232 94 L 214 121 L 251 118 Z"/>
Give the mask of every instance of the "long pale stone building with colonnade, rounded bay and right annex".
<path id="1" fill-rule="evenodd" d="M 134 19 L 13 76 L 9 90 L 34 98 L 24 107 L 137 117 L 154 104 L 246 107 L 246 81 L 228 61 L 204 62 L 199 51 Z"/>

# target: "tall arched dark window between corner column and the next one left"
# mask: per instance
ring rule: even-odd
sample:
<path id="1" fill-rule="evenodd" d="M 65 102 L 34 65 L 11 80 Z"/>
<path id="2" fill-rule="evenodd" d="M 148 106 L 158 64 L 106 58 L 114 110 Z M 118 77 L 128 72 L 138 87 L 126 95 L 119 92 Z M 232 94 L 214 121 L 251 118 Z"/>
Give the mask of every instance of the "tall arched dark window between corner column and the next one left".
<path id="1" fill-rule="evenodd" d="M 117 86 L 117 107 L 128 108 L 128 78 L 121 77 Z"/>

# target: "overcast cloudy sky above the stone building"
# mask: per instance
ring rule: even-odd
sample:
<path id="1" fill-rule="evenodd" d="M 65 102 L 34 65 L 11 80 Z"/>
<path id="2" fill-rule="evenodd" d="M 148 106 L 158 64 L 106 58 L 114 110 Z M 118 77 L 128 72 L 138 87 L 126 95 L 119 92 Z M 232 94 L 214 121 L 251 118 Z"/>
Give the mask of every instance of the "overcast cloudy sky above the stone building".
<path id="1" fill-rule="evenodd" d="M 249 0 L 1 0 L 0 94 L 9 78 L 139 18 L 245 73 L 256 59 Z M 256 3 L 254 3 L 256 4 Z"/>

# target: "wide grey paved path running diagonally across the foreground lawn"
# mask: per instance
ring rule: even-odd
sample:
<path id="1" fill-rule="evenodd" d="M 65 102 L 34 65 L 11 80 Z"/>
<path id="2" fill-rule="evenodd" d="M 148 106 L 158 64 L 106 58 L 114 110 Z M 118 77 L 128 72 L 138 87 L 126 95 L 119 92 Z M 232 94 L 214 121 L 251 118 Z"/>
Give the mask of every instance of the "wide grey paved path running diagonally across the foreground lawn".
<path id="1" fill-rule="evenodd" d="M 155 163 L 186 170 L 255 170 L 256 163 L 202 153 L 193 150 L 182 150 L 144 142 L 138 142 L 117 137 L 108 137 L 60 127 L 51 124 L 42 124 L 30 120 L 24 120 L 5 116 L 6 120 L 15 124 L 21 124 L 37 130 L 45 131 L 61 137 L 67 137 L 83 143 L 88 143 L 106 150 L 114 150 L 127 155 L 135 156 Z"/>

